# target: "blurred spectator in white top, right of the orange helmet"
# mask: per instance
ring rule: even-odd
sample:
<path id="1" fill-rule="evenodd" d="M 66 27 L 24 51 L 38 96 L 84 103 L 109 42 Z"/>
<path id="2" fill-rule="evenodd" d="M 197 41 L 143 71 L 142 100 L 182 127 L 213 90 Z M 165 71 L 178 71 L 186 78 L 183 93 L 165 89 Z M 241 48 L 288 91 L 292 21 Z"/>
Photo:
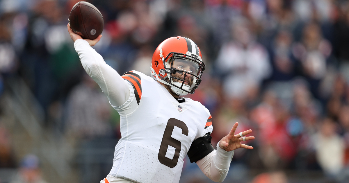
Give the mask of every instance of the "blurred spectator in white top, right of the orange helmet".
<path id="1" fill-rule="evenodd" d="M 250 23 L 237 19 L 233 26 L 233 41 L 222 46 L 216 67 L 226 75 L 223 82 L 224 94 L 228 98 L 245 98 L 245 94 L 259 87 L 271 72 L 266 49 L 255 41 Z"/>

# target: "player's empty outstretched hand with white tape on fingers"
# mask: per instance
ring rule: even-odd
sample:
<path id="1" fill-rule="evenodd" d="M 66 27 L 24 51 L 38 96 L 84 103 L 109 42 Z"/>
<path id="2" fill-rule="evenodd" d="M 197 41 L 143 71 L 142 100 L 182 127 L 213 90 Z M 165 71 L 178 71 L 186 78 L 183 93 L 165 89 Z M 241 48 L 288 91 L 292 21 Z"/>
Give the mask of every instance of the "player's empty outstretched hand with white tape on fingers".
<path id="1" fill-rule="evenodd" d="M 233 126 L 233 128 L 230 130 L 229 134 L 225 137 L 222 138 L 222 140 L 218 143 L 218 145 L 224 149 L 225 151 L 233 151 L 236 150 L 240 147 L 245 148 L 245 149 L 253 149 L 252 146 L 246 145 L 246 144 L 241 144 L 241 141 L 243 141 L 243 137 L 241 137 L 239 134 L 235 135 L 235 130 L 238 127 L 239 123 L 236 122 Z M 252 132 L 252 130 L 247 130 L 242 132 L 242 135 L 248 135 Z M 254 137 L 244 137 L 245 140 L 253 140 Z"/>

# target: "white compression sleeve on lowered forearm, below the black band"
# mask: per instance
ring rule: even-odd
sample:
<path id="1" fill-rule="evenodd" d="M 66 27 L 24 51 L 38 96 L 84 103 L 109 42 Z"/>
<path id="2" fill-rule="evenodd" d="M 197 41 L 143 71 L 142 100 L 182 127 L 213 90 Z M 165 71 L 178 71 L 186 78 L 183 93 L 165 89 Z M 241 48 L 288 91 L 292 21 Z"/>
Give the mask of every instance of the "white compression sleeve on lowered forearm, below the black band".
<path id="1" fill-rule="evenodd" d="M 196 161 L 196 164 L 208 178 L 215 182 L 223 182 L 227 177 L 233 155 L 234 151 L 227 152 L 217 144 L 217 151 L 212 151 L 201 160 Z"/>

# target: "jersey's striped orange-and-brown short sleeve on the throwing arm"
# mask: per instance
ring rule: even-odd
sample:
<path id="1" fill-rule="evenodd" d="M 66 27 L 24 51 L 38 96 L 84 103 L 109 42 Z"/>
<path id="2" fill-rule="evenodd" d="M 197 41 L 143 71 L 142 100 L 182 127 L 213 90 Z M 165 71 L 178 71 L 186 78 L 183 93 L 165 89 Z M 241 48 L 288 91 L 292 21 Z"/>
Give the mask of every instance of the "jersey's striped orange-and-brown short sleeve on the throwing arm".
<path id="1" fill-rule="evenodd" d="M 116 109 L 121 116 L 126 116 L 133 113 L 138 108 L 142 98 L 142 79 L 136 71 L 129 71 L 121 77 L 128 84 L 130 96 L 124 104 L 119 107 L 113 106 L 113 108 Z"/>

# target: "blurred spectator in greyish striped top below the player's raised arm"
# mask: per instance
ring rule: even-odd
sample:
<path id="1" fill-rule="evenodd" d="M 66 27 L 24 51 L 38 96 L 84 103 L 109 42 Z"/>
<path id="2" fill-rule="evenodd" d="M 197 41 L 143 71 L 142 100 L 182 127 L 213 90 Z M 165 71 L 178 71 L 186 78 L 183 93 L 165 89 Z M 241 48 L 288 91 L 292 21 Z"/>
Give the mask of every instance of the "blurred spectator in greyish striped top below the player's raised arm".
<path id="1" fill-rule="evenodd" d="M 67 103 L 67 134 L 87 139 L 111 134 L 109 102 L 87 74 L 72 89 Z"/>

